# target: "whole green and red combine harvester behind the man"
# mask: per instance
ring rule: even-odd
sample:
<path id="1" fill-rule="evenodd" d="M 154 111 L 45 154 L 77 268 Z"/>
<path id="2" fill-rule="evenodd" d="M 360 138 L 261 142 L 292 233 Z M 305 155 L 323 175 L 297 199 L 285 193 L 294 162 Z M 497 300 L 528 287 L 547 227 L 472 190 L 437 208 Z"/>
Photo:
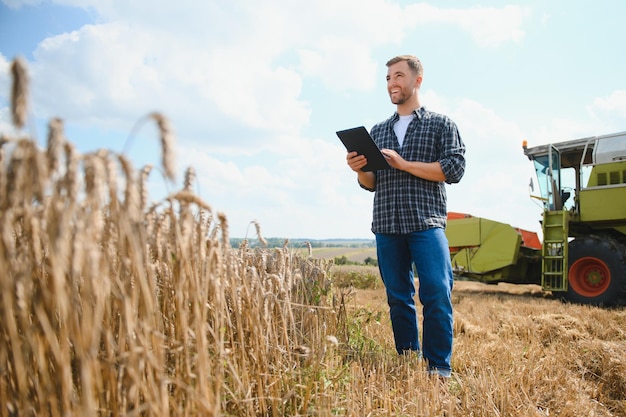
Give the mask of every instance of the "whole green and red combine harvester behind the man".
<path id="1" fill-rule="evenodd" d="M 536 233 L 449 213 L 455 274 L 538 284 L 581 304 L 626 304 L 626 132 L 529 148 L 543 204 Z M 532 185 L 532 182 L 531 182 Z"/>

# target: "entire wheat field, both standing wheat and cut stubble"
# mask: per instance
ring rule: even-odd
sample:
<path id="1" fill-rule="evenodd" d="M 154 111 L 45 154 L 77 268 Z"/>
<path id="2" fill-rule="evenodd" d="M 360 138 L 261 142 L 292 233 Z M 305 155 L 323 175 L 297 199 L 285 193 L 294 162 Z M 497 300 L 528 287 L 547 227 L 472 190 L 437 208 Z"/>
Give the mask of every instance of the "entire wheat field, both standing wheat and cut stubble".
<path id="1" fill-rule="evenodd" d="M 49 123 L 0 138 L 1 416 L 625 416 L 626 313 L 529 287 L 458 282 L 454 374 L 398 357 L 384 290 L 334 285 L 332 262 L 231 248 L 227 215 L 151 167 L 80 154 Z M 159 127 L 162 171 L 174 138 Z M 257 236 L 263 241 L 260 225 Z"/>

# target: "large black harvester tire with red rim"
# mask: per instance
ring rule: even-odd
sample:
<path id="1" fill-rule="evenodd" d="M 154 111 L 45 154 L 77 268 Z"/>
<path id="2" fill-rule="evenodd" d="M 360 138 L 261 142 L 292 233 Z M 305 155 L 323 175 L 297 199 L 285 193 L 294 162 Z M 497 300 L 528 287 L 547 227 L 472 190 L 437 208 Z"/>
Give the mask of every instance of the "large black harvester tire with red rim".
<path id="1" fill-rule="evenodd" d="M 613 306 L 626 301 L 626 247 L 610 236 L 585 236 L 569 244 L 568 290 L 573 303 Z"/>

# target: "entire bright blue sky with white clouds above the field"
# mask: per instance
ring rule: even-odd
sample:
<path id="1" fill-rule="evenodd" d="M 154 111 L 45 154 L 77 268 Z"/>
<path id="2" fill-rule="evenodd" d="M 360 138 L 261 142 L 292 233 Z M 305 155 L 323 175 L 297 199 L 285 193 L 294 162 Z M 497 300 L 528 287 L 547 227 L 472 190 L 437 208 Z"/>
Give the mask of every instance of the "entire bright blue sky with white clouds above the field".
<path id="1" fill-rule="evenodd" d="M 598 0 L 1 0 L 0 134 L 42 147 L 63 119 L 81 153 L 160 166 L 153 111 L 175 135 L 177 177 L 225 213 L 231 237 L 373 239 L 373 194 L 335 132 L 395 111 L 385 63 L 414 54 L 420 101 L 448 115 L 467 168 L 448 210 L 540 231 L 529 146 L 626 130 L 626 2 Z M 30 78 L 10 118 L 9 68 Z"/>

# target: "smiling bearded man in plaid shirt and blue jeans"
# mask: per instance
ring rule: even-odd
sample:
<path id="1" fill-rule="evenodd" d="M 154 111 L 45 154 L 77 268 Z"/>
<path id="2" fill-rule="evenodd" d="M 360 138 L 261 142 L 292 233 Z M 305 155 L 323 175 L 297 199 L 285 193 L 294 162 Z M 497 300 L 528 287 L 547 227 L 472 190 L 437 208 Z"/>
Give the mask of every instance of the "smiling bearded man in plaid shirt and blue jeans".
<path id="1" fill-rule="evenodd" d="M 421 353 L 432 374 L 449 377 L 452 356 L 452 266 L 445 183 L 465 172 L 465 145 L 447 116 L 420 105 L 422 64 L 401 55 L 387 62 L 387 92 L 396 112 L 371 130 L 391 169 L 364 172 L 367 160 L 349 152 L 359 185 L 375 192 L 372 232 L 399 354 L 420 351 L 412 265 L 423 306 Z"/>

